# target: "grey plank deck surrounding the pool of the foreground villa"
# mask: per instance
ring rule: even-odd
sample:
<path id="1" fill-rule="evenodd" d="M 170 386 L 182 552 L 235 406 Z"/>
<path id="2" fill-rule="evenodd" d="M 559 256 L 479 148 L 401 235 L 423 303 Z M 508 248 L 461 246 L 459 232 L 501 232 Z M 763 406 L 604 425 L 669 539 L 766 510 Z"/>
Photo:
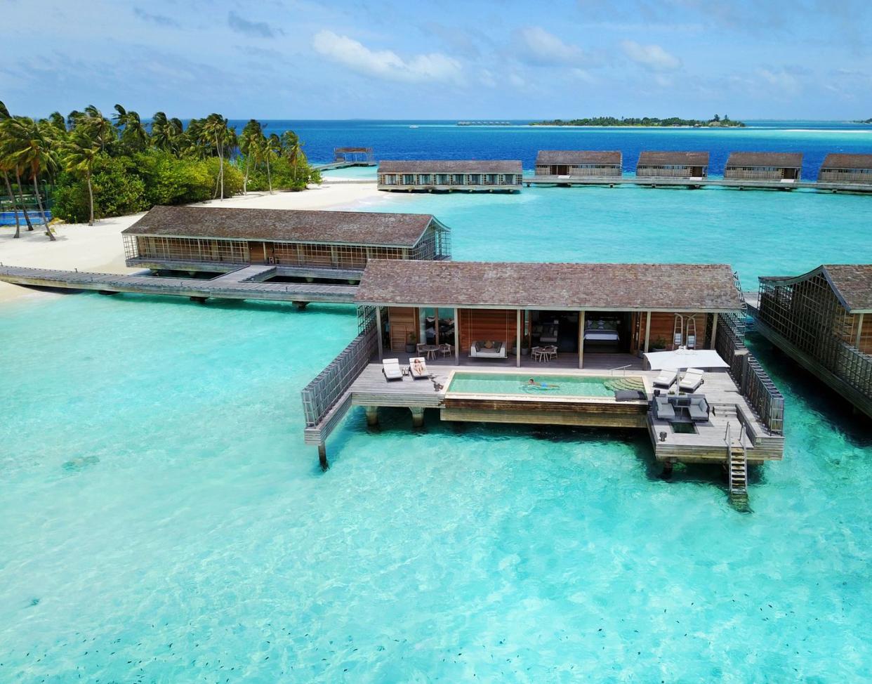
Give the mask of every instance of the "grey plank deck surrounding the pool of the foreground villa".
<path id="1" fill-rule="evenodd" d="M 408 364 L 408 354 L 388 354 L 399 358 L 400 364 Z M 521 366 L 524 376 L 543 377 L 548 373 L 562 375 L 609 376 L 620 379 L 624 376 L 644 379 L 648 399 L 640 407 L 632 407 L 630 402 L 603 400 L 599 406 L 576 407 L 540 406 L 538 402 L 528 407 L 517 406 L 511 398 L 495 398 L 494 406 L 475 409 L 472 407 L 453 407 L 446 405 L 446 387 L 449 375 L 455 369 L 482 372 L 517 371 L 514 359 L 461 359 L 460 366 L 453 358 L 427 361 L 432 378 L 413 380 L 405 376 L 403 380 L 388 382 L 382 374 L 382 366 L 373 360 L 355 380 L 343 400 L 339 402 L 342 414 L 351 406 L 367 407 L 369 420 L 375 420 L 378 407 L 405 407 L 412 410 L 413 420 L 426 408 L 438 408 L 440 417 L 446 421 L 518 422 L 549 425 L 589 425 L 593 427 L 643 428 L 651 436 L 651 445 L 658 461 L 670 462 L 712 462 L 727 461 L 726 427 L 730 424 L 733 447 L 739 446 L 739 438 L 744 426 L 744 442 L 749 462 L 780 460 L 783 455 L 784 438 L 770 434 L 753 414 L 746 399 L 739 393 L 726 370 L 708 371 L 705 383 L 698 393 L 712 407 L 709 420 L 695 423 L 695 432 L 681 434 L 672 431 L 668 421 L 658 421 L 648 410 L 647 401 L 652 399 L 652 381 L 657 371 L 642 370 L 642 360 L 630 354 L 586 353 L 584 368 L 577 368 L 577 356 L 562 355 L 556 362 L 541 364 L 524 358 Z M 508 362 L 510 361 L 510 363 Z M 623 368 L 622 366 L 627 366 Z M 504 404 L 500 405 L 500 401 Z M 448 401 L 447 404 L 451 404 Z M 513 404 L 509 406 L 509 404 Z M 592 402 L 596 404 L 596 401 Z M 635 415 L 634 415 L 635 412 Z M 328 434 L 337 427 L 341 415 L 331 412 L 323 425 L 307 428 L 306 441 L 310 444 L 324 445 Z M 661 439 L 664 434 L 664 439 Z"/>

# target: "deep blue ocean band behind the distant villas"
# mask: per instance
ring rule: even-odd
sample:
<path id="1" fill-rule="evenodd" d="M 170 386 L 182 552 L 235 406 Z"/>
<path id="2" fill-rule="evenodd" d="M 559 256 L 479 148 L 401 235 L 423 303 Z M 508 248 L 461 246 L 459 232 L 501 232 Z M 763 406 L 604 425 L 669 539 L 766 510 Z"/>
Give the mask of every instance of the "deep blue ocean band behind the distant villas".
<path id="1" fill-rule="evenodd" d="M 230 121 L 242 130 L 245 121 Z M 376 159 L 520 159 L 532 170 L 541 149 L 623 152 L 636 169 L 646 149 L 705 150 L 710 173 L 723 174 L 731 152 L 801 152 L 802 177 L 814 180 L 830 152 L 869 153 L 872 125 L 841 121 L 747 121 L 745 128 L 457 126 L 457 121 L 262 121 L 265 133 L 293 130 L 310 161 L 333 161 L 333 147 L 372 147 Z"/>

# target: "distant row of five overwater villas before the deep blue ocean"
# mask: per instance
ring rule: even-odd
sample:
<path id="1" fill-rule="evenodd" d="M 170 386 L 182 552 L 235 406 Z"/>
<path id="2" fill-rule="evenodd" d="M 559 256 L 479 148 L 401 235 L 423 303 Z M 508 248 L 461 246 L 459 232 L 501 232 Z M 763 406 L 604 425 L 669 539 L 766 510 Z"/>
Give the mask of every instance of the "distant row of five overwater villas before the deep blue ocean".
<path id="1" fill-rule="evenodd" d="M 828 154 L 816 182 L 801 181 L 800 153 L 733 152 L 722 179 L 710 178 L 708 169 L 708 152 L 644 151 L 636 176 L 630 178 L 623 176 L 623 155 L 618 151 L 540 150 L 535 175 L 527 177 L 522 174 L 521 161 L 381 161 L 378 189 L 516 192 L 525 184 L 636 183 L 872 191 L 872 154 Z"/>

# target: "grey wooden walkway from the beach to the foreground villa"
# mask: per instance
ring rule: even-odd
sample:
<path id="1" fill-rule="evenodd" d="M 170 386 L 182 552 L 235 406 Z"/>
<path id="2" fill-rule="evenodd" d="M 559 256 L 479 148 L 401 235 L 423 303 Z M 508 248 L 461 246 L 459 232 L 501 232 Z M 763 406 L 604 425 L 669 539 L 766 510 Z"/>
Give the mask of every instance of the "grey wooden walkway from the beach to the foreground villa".
<path id="1" fill-rule="evenodd" d="M 90 273 L 78 270 L 31 269 L 22 266 L 0 266 L 0 281 L 36 287 L 68 290 L 96 290 L 106 293 L 134 292 L 147 295 L 168 295 L 196 299 L 258 299 L 272 302 L 330 302 L 348 304 L 354 301 L 355 285 L 314 283 L 260 283 L 255 278 L 269 277 L 272 266 L 248 266 L 211 280 L 196 278 L 123 276 L 117 273 Z"/>

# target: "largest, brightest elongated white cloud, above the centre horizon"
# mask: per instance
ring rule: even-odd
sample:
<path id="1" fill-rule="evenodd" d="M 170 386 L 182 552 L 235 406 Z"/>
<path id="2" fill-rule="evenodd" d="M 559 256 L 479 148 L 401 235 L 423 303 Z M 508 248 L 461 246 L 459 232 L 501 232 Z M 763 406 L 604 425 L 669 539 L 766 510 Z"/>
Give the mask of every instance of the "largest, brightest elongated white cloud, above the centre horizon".
<path id="1" fill-rule="evenodd" d="M 460 62 L 439 52 L 403 59 L 392 50 L 371 50 L 357 40 L 339 36 L 333 31 L 318 31 L 312 38 L 312 47 L 319 55 L 337 64 L 378 79 L 406 83 L 456 83 L 463 80 Z"/>

